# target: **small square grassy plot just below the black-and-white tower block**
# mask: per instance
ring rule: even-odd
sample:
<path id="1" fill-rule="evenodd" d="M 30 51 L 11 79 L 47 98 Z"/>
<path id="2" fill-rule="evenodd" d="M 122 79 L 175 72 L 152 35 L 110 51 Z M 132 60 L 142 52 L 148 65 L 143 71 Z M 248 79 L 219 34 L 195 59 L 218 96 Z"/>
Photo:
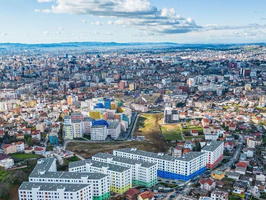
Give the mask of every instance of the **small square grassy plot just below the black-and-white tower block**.
<path id="1" fill-rule="evenodd" d="M 166 140 L 183 140 L 178 124 L 161 125 L 161 132 Z"/>

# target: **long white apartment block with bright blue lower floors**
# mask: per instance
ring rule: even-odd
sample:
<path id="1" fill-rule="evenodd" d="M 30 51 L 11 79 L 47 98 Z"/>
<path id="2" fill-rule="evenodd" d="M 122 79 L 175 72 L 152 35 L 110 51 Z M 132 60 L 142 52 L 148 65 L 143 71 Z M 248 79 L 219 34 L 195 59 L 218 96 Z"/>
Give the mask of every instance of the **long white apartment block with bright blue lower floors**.
<path id="1" fill-rule="evenodd" d="M 157 176 L 166 179 L 188 181 L 206 171 L 206 153 L 203 152 L 190 152 L 177 158 L 160 152 L 140 151 L 133 147 L 114 150 L 113 154 L 123 158 L 156 163 Z"/>

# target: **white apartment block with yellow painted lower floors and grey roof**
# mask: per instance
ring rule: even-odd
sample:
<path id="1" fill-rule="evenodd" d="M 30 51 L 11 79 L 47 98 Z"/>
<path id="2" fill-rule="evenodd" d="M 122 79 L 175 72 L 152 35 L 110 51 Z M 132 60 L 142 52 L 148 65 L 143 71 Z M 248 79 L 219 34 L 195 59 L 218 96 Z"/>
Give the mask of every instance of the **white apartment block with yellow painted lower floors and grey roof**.
<path id="1" fill-rule="evenodd" d="M 70 172 L 79 172 L 81 170 L 109 175 L 110 191 L 124 193 L 132 187 L 132 169 L 130 167 L 90 159 L 69 163 Z"/>

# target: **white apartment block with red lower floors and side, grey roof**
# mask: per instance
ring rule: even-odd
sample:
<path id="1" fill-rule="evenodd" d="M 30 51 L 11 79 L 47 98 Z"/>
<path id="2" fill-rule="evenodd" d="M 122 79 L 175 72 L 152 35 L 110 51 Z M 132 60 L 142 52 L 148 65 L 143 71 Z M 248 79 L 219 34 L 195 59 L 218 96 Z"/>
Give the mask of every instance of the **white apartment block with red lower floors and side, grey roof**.
<path id="1" fill-rule="evenodd" d="M 207 163 L 206 167 L 213 169 L 223 159 L 223 142 L 211 141 L 208 142 L 201 152 L 206 153 Z"/>

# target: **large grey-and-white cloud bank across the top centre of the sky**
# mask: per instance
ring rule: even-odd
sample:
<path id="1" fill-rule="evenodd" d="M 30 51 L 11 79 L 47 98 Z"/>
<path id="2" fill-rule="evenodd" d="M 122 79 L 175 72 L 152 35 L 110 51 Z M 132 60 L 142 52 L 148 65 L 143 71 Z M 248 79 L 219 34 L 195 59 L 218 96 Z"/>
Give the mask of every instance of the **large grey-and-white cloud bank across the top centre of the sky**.
<path id="1" fill-rule="evenodd" d="M 160 33 L 186 33 L 201 28 L 192 18 L 185 19 L 173 8 L 158 9 L 148 0 L 57 0 L 44 13 L 89 14 L 98 17 L 112 17 L 108 25 L 138 27 L 142 30 L 160 31 Z M 102 25 L 104 22 L 92 22 L 91 25 Z"/>

